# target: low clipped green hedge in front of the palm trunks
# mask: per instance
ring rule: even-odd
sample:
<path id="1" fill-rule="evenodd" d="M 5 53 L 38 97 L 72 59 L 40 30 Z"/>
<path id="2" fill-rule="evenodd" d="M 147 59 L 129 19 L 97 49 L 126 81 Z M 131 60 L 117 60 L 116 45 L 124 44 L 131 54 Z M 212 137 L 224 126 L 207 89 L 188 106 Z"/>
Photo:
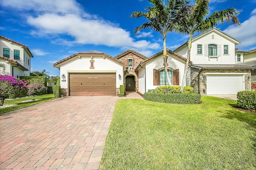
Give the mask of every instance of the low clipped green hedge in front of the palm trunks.
<path id="1" fill-rule="evenodd" d="M 197 104 L 201 100 L 201 95 L 197 93 L 184 94 L 184 93 L 168 93 L 159 94 L 147 92 L 144 93 L 144 99 L 149 101 L 156 101 L 160 103 L 173 103 L 173 104 Z"/>

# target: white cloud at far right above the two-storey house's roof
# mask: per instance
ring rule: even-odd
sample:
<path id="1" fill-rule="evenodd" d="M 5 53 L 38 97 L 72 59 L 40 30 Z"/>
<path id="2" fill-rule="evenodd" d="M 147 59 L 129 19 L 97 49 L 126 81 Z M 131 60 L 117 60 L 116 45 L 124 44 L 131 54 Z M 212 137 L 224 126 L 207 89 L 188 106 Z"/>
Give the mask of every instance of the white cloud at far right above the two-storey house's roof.
<path id="1" fill-rule="evenodd" d="M 239 40 L 241 43 L 238 47 L 243 48 L 250 45 L 256 45 L 254 28 L 256 28 L 256 15 L 251 16 L 248 20 L 241 23 L 241 26 L 228 26 L 224 32 Z"/>

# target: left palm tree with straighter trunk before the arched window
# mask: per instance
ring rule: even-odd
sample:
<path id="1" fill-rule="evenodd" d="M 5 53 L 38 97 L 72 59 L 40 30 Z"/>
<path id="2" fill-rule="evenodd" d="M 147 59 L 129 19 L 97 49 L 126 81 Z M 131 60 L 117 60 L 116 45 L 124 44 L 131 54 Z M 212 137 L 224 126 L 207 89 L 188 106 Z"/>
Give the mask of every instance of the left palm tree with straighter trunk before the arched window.
<path id="1" fill-rule="evenodd" d="M 182 7 L 188 3 L 186 0 L 167 0 L 166 4 L 162 0 L 148 0 L 153 4 L 153 7 L 146 8 L 147 12 L 133 12 L 131 17 L 138 18 L 144 17 L 148 22 L 145 22 L 140 27 L 135 28 L 134 34 L 142 29 L 153 29 L 159 32 L 163 37 L 163 56 L 164 56 L 164 70 L 168 80 L 168 84 L 171 85 L 171 81 L 167 70 L 167 51 L 166 51 L 166 36 L 169 32 L 174 30 L 174 26 L 177 24 L 178 18 L 182 14 Z"/>

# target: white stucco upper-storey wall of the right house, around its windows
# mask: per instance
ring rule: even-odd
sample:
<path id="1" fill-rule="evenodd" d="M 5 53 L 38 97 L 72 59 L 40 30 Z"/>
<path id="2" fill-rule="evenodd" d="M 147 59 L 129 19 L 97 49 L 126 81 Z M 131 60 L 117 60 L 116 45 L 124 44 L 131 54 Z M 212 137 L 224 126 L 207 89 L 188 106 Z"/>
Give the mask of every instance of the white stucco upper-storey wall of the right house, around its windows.
<path id="1" fill-rule="evenodd" d="M 198 44 L 202 45 L 202 54 L 197 54 Z M 217 45 L 217 56 L 219 56 L 218 61 L 217 56 L 212 56 L 209 61 L 208 48 L 206 47 L 206 45 L 209 44 Z M 220 47 L 219 50 L 218 45 Z M 228 45 L 228 54 L 224 54 L 224 45 Z M 184 45 L 182 48 L 176 50 L 175 52 L 182 55 L 183 57 L 187 57 L 187 49 L 188 45 Z M 193 64 L 235 64 L 235 40 L 229 38 L 228 36 L 216 30 L 210 31 L 207 34 L 199 36 L 198 38 L 192 40 L 190 61 L 192 61 Z"/>

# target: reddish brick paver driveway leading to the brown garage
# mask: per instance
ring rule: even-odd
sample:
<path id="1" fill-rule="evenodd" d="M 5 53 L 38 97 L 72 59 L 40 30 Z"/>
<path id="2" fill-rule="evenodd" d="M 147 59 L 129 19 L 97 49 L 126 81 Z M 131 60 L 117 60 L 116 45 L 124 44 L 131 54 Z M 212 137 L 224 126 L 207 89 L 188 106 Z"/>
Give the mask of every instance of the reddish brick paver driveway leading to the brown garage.
<path id="1" fill-rule="evenodd" d="M 0 168 L 98 169 L 118 97 L 64 97 L 0 115 Z"/>

